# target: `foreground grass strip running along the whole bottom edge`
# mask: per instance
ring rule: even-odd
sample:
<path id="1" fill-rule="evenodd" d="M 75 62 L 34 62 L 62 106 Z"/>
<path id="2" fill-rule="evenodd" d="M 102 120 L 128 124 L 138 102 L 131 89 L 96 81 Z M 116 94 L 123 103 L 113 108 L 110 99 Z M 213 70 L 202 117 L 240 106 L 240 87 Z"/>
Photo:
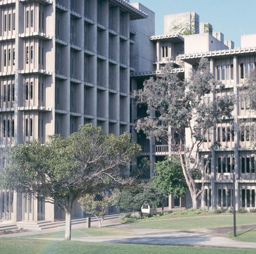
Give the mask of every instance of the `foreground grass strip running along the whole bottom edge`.
<path id="1" fill-rule="evenodd" d="M 25 238 L 1 238 L 0 253 L 5 254 L 255 254 L 255 250 L 206 248 L 186 246 L 159 246 L 143 244 L 88 243 L 51 241 Z"/>

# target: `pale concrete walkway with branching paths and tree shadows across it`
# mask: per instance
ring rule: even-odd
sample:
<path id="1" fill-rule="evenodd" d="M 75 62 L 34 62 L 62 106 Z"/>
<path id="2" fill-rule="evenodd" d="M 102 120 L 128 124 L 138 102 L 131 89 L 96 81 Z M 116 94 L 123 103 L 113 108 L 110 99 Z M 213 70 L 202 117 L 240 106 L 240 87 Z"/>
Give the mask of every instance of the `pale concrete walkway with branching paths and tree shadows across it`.
<path id="1" fill-rule="evenodd" d="M 132 230 L 133 235 L 102 236 L 102 237 L 73 237 L 72 241 L 84 242 L 104 242 L 104 243 L 133 243 L 133 244 L 154 244 L 154 245 L 185 245 L 204 247 L 224 247 L 224 248 L 245 248 L 256 249 L 256 243 L 239 242 L 226 237 L 232 232 L 232 227 L 205 228 L 191 230 L 169 230 L 169 229 L 148 229 L 139 228 L 131 224 L 120 224 L 119 219 L 104 220 L 103 225 L 111 225 L 122 229 Z M 92 226 L 97 226 L 93 222 Z M 84 224 L 72 225 L 72 228 L 85 227 Z M 256 224 L 238 226 L 237 230 L 256 228 Z M 65 230 L 65 227 L 34 230 L 24 233 L 3 235 L 0 237 L 28 237 L 30 235 L 45 234 Z M 62 240 L 59 238 L 40 238 L 46 240 Z"/>

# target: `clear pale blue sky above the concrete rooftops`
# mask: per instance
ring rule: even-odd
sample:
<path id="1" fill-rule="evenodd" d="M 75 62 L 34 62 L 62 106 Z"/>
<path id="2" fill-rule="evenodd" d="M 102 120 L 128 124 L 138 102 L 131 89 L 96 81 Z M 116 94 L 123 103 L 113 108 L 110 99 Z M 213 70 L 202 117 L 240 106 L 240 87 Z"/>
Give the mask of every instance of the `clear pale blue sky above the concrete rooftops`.
<path id="1" fill-rule="evenodd" d="M 256 34 L 256 0 L 130 0 L 155 12 L 156 35 L 163 34 L 163 16 L 179 12 L 196 12 L 200 22 L 209 22 L 225 40 L 240 47 L 240 36 Z"/>

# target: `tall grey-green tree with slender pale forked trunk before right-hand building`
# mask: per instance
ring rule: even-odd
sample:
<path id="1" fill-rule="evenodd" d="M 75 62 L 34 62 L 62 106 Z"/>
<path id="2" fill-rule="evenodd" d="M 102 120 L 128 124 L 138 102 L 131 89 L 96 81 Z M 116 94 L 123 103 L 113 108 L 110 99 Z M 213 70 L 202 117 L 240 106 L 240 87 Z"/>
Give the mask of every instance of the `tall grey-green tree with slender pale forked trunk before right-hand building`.
<path id="1" fill-rule="evenodd" d="M 233 109 L 233 96 L 217 97 L 223 89 L 224 85 L 210 73 L 208 61 L 202 58 L 188 80 L 181 80 L 173 66 L 166 64 L 160 76 L 146 80 L 143 89 L 134 91 L 137 105 L 148 107 L 148 116 L 137 120 L 136 130 L 142 130 L 148 138 L 166 138 L 170 149 L 179 155 L 193 208 L 197 208 L 203 191 L 193 178 L 199 148 L 210 128 L 230 117 Z M 213 100 L 203 103 L 208 95 Z"/>

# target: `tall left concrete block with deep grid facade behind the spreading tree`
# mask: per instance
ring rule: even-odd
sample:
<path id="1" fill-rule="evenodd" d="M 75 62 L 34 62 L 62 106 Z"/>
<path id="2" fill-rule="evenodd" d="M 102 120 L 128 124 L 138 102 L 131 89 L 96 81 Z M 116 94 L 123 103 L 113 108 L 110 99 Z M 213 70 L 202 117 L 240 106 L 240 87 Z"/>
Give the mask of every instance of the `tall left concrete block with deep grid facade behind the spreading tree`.
<path id="1" fill-rule="evenodd" d="M 130 131 L 130 22 L 146 17 L 123 0 L 0 1 L 1 146 L 68 136 L 86 123 Z M 25 194 L 0 194 L 0 219 L 63 215 Z M 82 216 L 79 204 L 73 216 Z"/>

